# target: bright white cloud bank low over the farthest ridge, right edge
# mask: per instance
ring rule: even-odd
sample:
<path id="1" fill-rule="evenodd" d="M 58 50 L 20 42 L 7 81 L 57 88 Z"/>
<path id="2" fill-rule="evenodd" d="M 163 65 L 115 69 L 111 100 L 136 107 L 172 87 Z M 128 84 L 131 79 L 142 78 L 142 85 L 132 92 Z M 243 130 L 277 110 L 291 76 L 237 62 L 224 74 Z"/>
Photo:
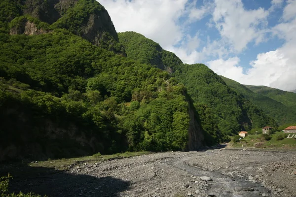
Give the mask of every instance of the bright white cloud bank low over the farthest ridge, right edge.
<path id="1" fill-rule="evenodd" d="M 243 72 L 239 65 L 239 58 L 227 60 L 218 59 L 208 62 L 208 66 L 217 74 L 233 79 L 241 84 L 265 85 L 282 90 L 296 89 L 295 59 L 286 57 L 283 49 L 261 53 L 255 61 L 250 63 L 251 68 Z"/>

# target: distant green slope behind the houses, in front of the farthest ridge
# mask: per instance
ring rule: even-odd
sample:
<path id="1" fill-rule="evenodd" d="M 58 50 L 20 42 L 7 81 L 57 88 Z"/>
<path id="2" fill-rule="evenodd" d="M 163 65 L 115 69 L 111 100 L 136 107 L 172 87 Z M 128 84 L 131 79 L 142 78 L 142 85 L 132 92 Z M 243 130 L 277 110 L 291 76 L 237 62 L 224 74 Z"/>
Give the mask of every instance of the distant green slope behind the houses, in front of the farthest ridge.
<path id="1" fill-rule="evenodd" d="M 229 87 L 233 88 L 233 90 L 235 90 L 237 93 L 243 95 L 252 103 L 259 106 L 266 114 L 273 117 L 279 125 L 285 125 L 295 122 L 296 111 L 294 108 L 285 105 L 285 102 L 282 103 L 275 99 L 264 96 L 263 94 L 253 92 L 252 90 L 247 88 L 250 86 L 242 85 L 234 80 L 228 79 L 223 76 L 221 77 Z M 253 89 L 256 89 L 256 87 L 253 86 Z"/>

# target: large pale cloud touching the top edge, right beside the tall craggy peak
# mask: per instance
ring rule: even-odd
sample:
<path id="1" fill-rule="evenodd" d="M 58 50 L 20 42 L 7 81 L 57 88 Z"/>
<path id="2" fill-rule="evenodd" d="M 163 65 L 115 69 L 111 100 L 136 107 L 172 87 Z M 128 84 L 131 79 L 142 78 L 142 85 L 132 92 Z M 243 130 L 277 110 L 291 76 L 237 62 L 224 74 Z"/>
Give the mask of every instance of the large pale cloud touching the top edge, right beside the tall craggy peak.
<path id="1" fill-rule="evenodd" d="M 117 32 L 134 31 L 166 48 L 183 38 L 177 20 L 187 0 L 98 0 L 109 12 Z"/>

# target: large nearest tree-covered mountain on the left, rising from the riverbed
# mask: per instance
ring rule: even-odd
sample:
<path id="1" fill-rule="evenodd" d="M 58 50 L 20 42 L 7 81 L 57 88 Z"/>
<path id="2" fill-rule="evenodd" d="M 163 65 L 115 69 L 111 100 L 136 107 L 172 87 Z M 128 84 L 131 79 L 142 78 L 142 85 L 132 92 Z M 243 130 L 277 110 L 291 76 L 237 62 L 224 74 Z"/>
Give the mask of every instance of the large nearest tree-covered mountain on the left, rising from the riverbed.
<path id="1" fill-rule="evenodd" d="M 96 0 L 1 0 L 0 161 L 216 142 L 184 85 L 125 56 Z"/>

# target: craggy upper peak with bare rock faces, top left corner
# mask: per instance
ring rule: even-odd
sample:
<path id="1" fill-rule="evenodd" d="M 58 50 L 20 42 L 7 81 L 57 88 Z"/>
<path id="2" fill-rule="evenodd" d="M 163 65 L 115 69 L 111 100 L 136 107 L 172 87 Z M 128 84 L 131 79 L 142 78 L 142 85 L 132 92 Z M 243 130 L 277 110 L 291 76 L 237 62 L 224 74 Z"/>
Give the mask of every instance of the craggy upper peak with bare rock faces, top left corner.
<path id="1" fill-rule="evenodd" d="M 96 0 L 1 0 L 0 13 L 1 26 L 10 34 L 64 28 L 101 48 L 125 54 L 107 10 Z"/>

